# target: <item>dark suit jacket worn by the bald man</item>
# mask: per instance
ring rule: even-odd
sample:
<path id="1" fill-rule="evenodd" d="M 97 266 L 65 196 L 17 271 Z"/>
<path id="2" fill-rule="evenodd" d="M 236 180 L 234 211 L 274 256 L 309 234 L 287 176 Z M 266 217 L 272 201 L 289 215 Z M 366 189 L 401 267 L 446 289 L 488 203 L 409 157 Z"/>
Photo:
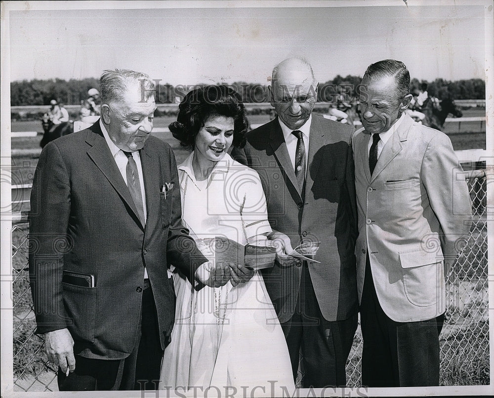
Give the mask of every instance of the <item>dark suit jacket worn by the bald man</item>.
<path id="1" fill-rule="evenodd" d="M 247 145 L 232 154 L 261 178 L 274 230 L 301 242 L 320 241 L 309 272 L 321 312 L 329 321 L 358 310 L 355 262 L 357 215 L 354 164 L 350 144 L 353 128 L 312 117 L 305 200 L 278 119 L 247 134 Z M 301 267 L 275 264 L 263 278 L 280 322 L 291 318 L 300 287 Z"/>

